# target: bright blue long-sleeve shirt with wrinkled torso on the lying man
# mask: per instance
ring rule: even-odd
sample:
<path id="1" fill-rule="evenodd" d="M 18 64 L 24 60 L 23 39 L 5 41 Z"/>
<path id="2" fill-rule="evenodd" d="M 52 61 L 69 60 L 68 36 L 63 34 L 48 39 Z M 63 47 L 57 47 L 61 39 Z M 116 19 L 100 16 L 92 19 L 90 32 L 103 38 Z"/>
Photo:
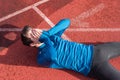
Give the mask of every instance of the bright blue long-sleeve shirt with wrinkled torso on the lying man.
<path id="1" fill-rule="evenodd" d="M 91 69 L 93 45 L 70 42 L 61 38 L 70 25 L 69 19 L 63 19 L 48 31 L 43 31 L 39 41 L 38 63 L 50 68 L 66 68 L 84 75 Z"/>

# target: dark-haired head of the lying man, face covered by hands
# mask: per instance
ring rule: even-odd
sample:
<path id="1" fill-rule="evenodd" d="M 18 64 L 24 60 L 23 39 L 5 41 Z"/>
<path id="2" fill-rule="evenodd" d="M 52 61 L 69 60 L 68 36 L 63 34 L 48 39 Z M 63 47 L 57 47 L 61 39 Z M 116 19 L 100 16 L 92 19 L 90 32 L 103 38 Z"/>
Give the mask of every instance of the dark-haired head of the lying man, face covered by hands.
<path id="1" fill-rule="evenodd" d="M 39 47 L 40 42 L 39 40 L 36 40 L 36 35 L 34 34 L 40 31 L 40 29 L 33 29 L 29 25 L 26 25 L 21 32 L 22 43 L 26 46 Z M 37 36 L 40 37 L 40 34 L 38 34 Z"/>

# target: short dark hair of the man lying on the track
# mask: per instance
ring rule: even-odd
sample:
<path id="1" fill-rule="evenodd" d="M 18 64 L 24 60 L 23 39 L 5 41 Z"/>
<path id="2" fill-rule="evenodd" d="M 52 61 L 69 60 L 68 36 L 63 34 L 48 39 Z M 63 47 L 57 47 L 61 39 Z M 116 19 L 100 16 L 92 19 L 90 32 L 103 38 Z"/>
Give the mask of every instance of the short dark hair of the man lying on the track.
<path id="1" fill-rule="evenodd" d="M 22 32 L 21 32 L 21 41 L 24 45 L 30 46 L 33 41 L 26 36 L 27 32 L 31 29 L 29 25 L 24 26 Z"/>

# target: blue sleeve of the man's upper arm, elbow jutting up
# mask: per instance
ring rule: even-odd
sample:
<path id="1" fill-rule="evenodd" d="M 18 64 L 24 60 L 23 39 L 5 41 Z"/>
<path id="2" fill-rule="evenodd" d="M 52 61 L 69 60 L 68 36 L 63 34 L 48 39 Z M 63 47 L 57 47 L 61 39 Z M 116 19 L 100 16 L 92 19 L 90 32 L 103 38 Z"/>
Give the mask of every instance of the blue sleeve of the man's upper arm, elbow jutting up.
<path id="1" fill-rule="evenodd" d="M 61 36 L 62 33 L 69 27 L 70 19 L 62 19 L 60 20 L 53 28 L 48 30 L 50 36 L 57 35 Z"/>

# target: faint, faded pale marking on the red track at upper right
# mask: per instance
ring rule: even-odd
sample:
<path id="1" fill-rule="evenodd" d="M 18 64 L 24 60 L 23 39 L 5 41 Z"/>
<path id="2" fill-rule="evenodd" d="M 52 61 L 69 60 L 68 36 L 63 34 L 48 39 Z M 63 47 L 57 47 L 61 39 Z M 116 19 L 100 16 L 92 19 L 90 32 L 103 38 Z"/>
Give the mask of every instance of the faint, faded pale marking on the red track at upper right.
<path id="1" fill-rule="evenodd" d="M 97 12 L 100 12 L 104 8 L 105 8 L 105 5 L 103 3 L 101 3 L 94 8 L 91 8 L 88 11 L 81 13 L 77 17 L 71 19 L 71 25 L 79 26 L 79 27 L 89 27 L 89 23 L 82 22 L 82 20 L 96 14 Z"/>

